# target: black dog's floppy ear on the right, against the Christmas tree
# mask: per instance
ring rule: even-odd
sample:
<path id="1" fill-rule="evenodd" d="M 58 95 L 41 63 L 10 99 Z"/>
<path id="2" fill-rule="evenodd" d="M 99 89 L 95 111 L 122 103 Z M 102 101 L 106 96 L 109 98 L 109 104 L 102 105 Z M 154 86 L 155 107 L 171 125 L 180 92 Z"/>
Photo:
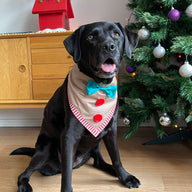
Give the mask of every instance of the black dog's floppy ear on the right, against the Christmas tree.
<path id="1" fill-rule="evenodd" d="M 131 53 L 136 48 L 139 38 L 136 33 L 129 31 L 127 28 L 123 28 L 120 23 L 117 23 L 118 27 L 124 34 L 125 41 L 124 41 L 124 48 L 128 58 L 131 59 Z"/>

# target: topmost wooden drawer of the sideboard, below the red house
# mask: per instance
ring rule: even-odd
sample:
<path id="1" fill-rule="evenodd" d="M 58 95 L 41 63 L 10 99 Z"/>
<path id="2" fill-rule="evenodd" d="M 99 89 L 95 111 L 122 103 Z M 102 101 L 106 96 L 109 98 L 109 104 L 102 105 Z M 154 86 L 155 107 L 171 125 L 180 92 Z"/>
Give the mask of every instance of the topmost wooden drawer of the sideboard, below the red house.
<path id="1" fill-rule="evenodd" d="M 63 48 L 63 41 L 67 36 L 31 37 L 31 49 L 37 48 Z"/>

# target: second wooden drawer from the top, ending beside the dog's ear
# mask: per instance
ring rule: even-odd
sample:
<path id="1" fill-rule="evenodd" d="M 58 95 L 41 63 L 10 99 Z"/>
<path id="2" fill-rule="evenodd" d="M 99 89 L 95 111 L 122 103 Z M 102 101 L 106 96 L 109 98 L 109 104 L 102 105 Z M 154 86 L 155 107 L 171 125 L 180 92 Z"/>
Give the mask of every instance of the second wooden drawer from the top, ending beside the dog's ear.
<path id="1" fill-rule="evenodd" d="M 32 49 L 31 60 L 32 64 L 73 63 L 65 48 Z"/>

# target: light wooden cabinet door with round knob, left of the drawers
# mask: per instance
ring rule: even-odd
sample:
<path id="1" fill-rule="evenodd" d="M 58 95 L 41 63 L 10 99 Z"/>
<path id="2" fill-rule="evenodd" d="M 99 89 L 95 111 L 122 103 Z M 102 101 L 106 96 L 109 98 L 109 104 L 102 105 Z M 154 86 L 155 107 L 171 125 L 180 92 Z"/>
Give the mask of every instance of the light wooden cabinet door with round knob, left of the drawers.
<path id="1" fill-rule="evenodd" d="M 0 99 L 30 99 L 27 39 L 0 39 Z"/>

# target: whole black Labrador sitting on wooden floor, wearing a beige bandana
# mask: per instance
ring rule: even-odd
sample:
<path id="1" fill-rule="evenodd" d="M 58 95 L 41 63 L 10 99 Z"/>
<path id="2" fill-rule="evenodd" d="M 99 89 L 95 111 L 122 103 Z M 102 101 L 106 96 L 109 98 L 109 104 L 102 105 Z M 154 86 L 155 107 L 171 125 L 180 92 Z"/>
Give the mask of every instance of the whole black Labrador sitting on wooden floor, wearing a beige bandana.
<path id="1" fill-rule="evenodd" d="M 72 192 L 72 169 L 85 164 L 90 158 L 94 159 L 94 167 L 118 177 L 126 187 L 139 187 L 139 180 L 126 172 L 120 161 L 116 142 L 118 105 L 115 98 L 117 94 L 114 95 L 116 93 L 114 79 L 123 55 L 126 53 L 131 58 L 137 42 L 138 37 L 135 33 L 124 29 L 119 23 L 112 22 L 83 25 L 64 40 L 66 50 L 73 56 L 75 67 L 45 107 L 35 148 L 19 148 L 11 153 L 11 155 L 32 157 L 29 166 L 18 178 L 18 192 L 32 191 L 29 180 L 34 171 L 39 171 L 46 176 L 61 173 L 61 192 Z M 71 81 L 73 81 L 72 84 L 70 84 Z M 102 111 L 97 112 L 98 108 L 95 110 L 95 106 L 93 107 L 93 112 L 99 113 L 93 117 L 93 125 L 90 125 L 92 117 L 90 120 L 84 120 L 81 118 L 83 115 L 78 113 L 81 106 L 89 105 L 89 99 L 87 100 L 87 96 L 81 93 L 82 91 L 84 94 L 86 89 L 84 83 L 87 81 L 91 85 L 96 84 L 97 89 L 101 88 L 99 91 L 96 90 L 99 92 L 99 99 L 94 104 L 96 107 L 102 106 L 106 100 L 107 105 L 103 105 L 102 108 L 105 110 L 106 106 L 110 105 L 108 98 L 115 101 L 111 108 L 106 109 L 110 111 L 107 117 L 105 117 L 106 114 L 100 114 Z M 108 91 L 109 96 L 106 96 L 107 91 L 104 89 L 108 87 L 114 88 L 113 91 L 110 90 L 113 95 Z M 74 92 L 69 93 L 71 89 Z M 95 95 L 95 93 L 91 94 Z M 71 100 L 76 102 L 80 95 L 86 100 L 77 102 L 77 108 L 75 108 Z M 90 102 L 93 105 L 93 101 Z M 88 111 L 88 114 L 92 115 L 91 109 L 85 107 L 84 112 Z M 104 113 L 107 113 L 106 110 Z M 87 127 L 87 124 L 90 126 Z M 94 128 L 97 124 L 101 125 L 97 127 L 99 131 Z M 101 139 L 108 150 L 112 165 L 102 158 Z"/>

